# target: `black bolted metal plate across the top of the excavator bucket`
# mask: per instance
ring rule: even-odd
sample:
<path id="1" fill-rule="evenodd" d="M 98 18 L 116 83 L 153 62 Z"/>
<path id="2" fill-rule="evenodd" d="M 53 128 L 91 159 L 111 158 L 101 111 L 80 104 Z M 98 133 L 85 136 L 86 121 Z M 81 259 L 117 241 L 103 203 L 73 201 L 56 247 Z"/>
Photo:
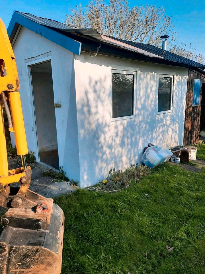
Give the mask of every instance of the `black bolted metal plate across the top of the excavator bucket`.
<path id="1" fill-rule="evenodd" d="M 1 225 L 4 227 L 9 226 L 32 230 L 41 230 L 42 222 L 42 220 L 38 219 L 18 218 L 5 215 L 1 217 Z"/>

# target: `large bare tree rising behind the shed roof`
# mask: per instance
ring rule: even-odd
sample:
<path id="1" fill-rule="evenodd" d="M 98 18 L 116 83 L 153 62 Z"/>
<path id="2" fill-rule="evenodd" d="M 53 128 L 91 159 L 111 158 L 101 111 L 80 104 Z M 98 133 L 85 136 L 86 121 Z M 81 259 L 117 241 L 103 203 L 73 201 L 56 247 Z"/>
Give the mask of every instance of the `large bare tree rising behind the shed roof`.
<path id="1" fill-rule="evenodd" d="M 66 15 L 65 24 L 92 27 L 99 33 L 125 40 L 158 46 L 161 35 L 169 33 L 169 43 L 172 43 L 176 34 L 171 17 L 167 17 L 162 6 L 131 8 L 127 0 L 109 0 L 108 4 L 104 0 L 91 0 L 84 8 L 79 4 L 71 12 Z"/>

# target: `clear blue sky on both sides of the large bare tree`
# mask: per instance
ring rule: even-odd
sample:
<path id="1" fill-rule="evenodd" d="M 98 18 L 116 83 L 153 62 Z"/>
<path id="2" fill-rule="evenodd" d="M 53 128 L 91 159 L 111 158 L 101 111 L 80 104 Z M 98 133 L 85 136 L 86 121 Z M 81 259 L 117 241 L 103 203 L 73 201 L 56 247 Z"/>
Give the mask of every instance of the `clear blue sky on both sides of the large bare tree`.
<path id="1" fill-rule="evenodd" d="M 175 31 L 177 32 L 177 41 L 184 41 L 186 45 L 190 43 L 196 47 L 197 53 L 205 55 L 205 1 L 204 0 L 164 0 L 151 1 L 128 0 L 131 6 L 148 4 L 163 7 L 166 15 L 172 17 Z M 71 0 L 5 0 L 0 4 L 0 17 L 6 27 L 9 25 L 14 10 L 28 12 L 40 17 L 47 17 L 62 22 L 65 14 L 71 13 L 71 9 L 76 4 L 82 3 L 84 6 L 88 1 Z"/>

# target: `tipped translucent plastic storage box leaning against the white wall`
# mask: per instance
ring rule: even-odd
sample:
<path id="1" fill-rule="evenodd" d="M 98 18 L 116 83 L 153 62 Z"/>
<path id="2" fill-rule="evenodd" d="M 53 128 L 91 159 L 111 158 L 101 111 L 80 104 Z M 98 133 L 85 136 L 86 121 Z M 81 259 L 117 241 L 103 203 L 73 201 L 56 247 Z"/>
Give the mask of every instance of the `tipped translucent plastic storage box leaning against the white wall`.
<path id="1" fill-rule="evenodd" d="M 148 147 L 142 155 L 141 162 L 148 168 L 154 168 L 169 161 L 173 153 L 163 144 Z"/>

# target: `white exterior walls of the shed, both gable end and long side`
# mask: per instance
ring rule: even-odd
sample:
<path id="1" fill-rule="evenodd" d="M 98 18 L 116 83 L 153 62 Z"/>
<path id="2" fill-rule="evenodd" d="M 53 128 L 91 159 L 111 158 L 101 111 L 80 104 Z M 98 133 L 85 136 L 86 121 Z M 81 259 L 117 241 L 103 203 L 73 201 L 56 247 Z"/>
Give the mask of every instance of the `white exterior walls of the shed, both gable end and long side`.
<path id="1" fill-rule="evenodd" d="M 26 43 L 25 43 L 26 41 Z M 60 166 L 86 187 L 106 177 L 110 168 L 140 162 L 148 142 L 183 143 L 188 69 L 87 53 L 75 56 L 22 28 L 14 44 L 28 146 L 36 150 L 32 98 L 26 64 L 50 58 Z M 74 58 L 73 58 L 74 57 Z M 136 118 L 111 122 L 111 69 L 137 72 Z M 157 115 L 158 76 L 175 75 L 173 112 Z"/>

